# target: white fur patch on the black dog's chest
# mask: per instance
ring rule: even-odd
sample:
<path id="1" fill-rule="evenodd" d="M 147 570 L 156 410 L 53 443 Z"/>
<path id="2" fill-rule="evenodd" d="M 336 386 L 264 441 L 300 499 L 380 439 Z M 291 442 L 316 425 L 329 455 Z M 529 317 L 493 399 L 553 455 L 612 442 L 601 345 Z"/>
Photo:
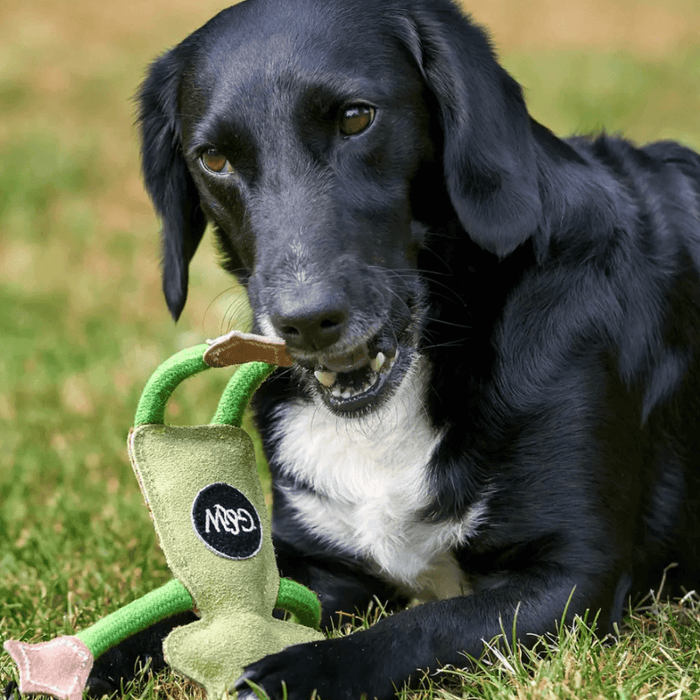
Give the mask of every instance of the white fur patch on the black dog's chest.
<path id="1" fill-rule="evenodd" d="M 468 592 L 451 550 L 474 533 L 486 504 L 459 522 L 418 517 L 430 501 L 426 467 L 440 440 L 423 406 L 423 362 L 414 361 L 392 399 L 364 418 L 338 418 L 321 403 L 286 406 L 278 456 L 290 476 L 313 487 L 288 496 L 316 536 L 429 600 Z"/>

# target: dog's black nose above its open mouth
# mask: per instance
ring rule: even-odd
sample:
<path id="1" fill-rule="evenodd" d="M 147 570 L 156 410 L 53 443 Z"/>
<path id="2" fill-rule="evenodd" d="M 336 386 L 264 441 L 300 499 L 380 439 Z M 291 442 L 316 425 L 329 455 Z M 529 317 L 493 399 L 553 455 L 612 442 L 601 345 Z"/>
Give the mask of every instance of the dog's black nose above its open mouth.
<path id="1" fill-rule="evenodd" d="M 281 294 L 275 300 L 270 320 L 287 345 L 307 352 L 324 350 L 343 334 L 350 315 L 341 294 L 310 289 Z"/>

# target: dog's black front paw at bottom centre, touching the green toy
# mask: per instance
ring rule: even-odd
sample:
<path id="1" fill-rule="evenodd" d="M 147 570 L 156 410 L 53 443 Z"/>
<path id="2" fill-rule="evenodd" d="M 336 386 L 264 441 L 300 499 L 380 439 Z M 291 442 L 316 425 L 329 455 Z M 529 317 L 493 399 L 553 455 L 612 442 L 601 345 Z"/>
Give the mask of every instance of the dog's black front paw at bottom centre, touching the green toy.
<path id="1" fill-rule="evenodd" d="M 357 642 L 360 635 L 295 644 L 248 666 L 236 681 L 240 700 L 256 700 L 250 681 L 270 700 L 388 700 L 395 694 L 382 659 Z M 286 688 L 286 695 L 285 690 Z"/>

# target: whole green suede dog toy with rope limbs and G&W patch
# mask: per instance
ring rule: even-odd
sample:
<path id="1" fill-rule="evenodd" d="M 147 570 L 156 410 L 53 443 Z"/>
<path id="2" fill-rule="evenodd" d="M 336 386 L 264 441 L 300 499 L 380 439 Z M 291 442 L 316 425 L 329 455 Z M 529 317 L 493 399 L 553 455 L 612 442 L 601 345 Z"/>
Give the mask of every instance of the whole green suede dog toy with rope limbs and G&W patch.
<path id="1" fill-rule="evenodd" d="M 251 361 L 259 357 L 267 361 Z M 247 364 L 231 378 L 211 425 L 165 425 L 165 405 L 180 382 L 239 362 Z M 178 353 L 153 374 L 129 433 L 129 455 L 175 579 L 73 636 L 6 641 L 21 693 L 80 700 L 100 654 L 193 607 L 200 619 L 176 627 L 163 651 L 214 700 L 234 695 L 248 664 L 322 639 L 316 596 L 280 579 L 253 443 L 240 428 L 255 389 L 275 365 L 289 364 L 282 343 L 234 332 Z M 302 624 L 274 618 L 276 607 Z"/>

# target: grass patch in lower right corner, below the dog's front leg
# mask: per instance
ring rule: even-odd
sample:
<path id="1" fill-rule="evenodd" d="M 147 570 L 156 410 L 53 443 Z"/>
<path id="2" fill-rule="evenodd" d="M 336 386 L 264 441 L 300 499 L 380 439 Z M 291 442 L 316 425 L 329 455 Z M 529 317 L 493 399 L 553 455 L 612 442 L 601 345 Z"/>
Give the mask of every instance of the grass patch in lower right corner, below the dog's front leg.
<path id="1" fill-rule="evenodd" d="M 508 643 L 504 633 L 476 669 L 448 670 L 445 689 L 429 683 L 427 694 L 444 700 L 697 698 L 699 615 L 695 596 L 676 604 L 656 600 L 625 620 L 617 641 L 599 639 L 593 624 L 577 618 L 535 651 Z"/>

